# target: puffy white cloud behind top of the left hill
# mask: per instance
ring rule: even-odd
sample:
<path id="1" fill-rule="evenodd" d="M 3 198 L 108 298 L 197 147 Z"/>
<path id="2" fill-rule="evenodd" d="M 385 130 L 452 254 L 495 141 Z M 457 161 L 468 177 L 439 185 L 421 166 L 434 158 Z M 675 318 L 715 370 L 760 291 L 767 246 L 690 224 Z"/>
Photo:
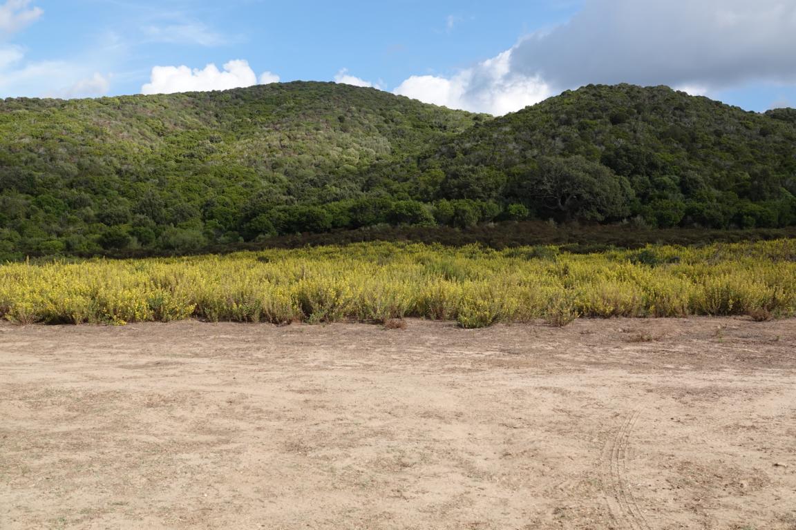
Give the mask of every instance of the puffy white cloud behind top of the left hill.
<path id="1" fill-rule="evenodd" d="M 275 83 L 279 75 L 263 72 L 259 83 Z M 230 88 L 251 87 L 258 83 L 257 75 L 245 60 L 231 60 L 220 71 L 215 64 L 203 69 L 187 66 L 156 66 L 152 68 L 150 82 L 141 87 L 144 94 L 174 94 L 174 92 L 195 92 L 228 90 Z"/>

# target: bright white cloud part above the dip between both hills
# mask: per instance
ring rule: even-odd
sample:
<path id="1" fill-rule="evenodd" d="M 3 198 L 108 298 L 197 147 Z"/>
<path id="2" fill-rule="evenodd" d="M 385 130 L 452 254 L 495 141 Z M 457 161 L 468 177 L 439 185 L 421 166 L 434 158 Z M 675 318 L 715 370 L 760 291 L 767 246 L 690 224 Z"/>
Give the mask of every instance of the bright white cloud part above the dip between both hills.
<path id="1" fill-rule="evenodd" d="M 506 114 L 539 103 L 552 95 L 537 75 L 511 72 L 512 50 L 451 77 L 415 75 L 393 92 L 451 109 Z"/>

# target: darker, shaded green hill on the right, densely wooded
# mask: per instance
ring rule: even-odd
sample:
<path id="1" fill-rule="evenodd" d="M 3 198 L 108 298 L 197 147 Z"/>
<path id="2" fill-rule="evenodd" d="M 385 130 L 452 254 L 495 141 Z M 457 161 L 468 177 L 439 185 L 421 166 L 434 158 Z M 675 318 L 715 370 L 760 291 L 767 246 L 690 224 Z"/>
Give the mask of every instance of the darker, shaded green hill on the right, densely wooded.
<path id="1" fill-rule="evenodd" d="M 417 175 L 435 172 L 431 189 Z M 746 112 L 668 87 L 589 86 L 443 141 L 404 168 L 424 199 L 540 219 L 710 228 L 796 222 L 796 110 Z M 385 171 L 384 187 L 395 171 Z"/>

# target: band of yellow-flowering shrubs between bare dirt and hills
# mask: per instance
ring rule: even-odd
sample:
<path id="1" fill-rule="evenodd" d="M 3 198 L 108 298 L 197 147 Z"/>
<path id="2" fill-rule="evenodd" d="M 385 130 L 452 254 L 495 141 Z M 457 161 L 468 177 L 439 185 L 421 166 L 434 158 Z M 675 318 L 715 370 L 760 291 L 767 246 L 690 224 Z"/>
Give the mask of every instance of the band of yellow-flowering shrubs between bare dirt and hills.
<path id="1" fill-rule="evenodd" d="M 796 240 L 563 253 L 363 243 L 227 256 L 0 265 L 14 323 L 177 319 L 462 327 L 579 316 L 796 314 Z"/>

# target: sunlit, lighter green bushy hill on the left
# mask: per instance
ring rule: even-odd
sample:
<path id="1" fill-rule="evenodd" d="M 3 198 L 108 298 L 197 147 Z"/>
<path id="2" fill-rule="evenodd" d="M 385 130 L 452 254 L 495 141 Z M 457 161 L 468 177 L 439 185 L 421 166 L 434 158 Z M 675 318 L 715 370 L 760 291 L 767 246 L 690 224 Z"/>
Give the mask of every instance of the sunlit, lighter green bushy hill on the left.
<path id="1" fill-rule="evenodd" d="M 334 220 L 296 205 L 355 199 L 370 164 L 486 118 L 334 83 L 6 99 L 0 258 L 328 230 Z"/>

